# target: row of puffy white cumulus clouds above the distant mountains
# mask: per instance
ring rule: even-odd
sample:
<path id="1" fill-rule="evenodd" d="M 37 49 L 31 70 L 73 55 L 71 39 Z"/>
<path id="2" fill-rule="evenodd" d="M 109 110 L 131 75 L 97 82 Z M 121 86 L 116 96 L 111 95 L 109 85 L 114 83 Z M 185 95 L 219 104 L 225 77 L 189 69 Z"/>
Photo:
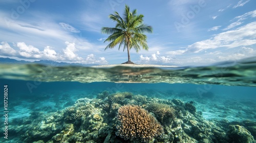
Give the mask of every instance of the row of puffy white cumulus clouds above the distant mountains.
<path id="1" fill-rule="evenodd" d="M 44 50 L 40 51 L 33 45 L 27 45 L 25 42 L 17 42 L 17 50 L 7 42 L 1 42 L 0 55 L 2 56 L 14 56 L 18 58 L 34 59 L 34 60 L 54 60 L 63 62 L 76 62 L 83 64 L 107 64 L 108 61 L 104 57 L 97 58 L 94 54 L 89 54 L 87 57 L 80 57 L 77 52 L 78 49 L 75 43 L 65 42 L 66 48 L 62 52 L 57 53 L 54 47 L 46 46 Z"/>

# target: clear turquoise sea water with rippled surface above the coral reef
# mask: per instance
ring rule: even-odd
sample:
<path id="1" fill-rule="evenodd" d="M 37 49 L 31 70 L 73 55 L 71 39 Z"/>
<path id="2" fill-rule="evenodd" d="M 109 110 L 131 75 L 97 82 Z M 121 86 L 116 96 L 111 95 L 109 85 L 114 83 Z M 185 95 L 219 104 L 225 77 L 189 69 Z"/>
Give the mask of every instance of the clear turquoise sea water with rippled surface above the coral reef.
<path id="1" fill-rule="evenodd" d="M 27 125 L 31 124 L 30 122 L 38 122 L 40 125 L 42 122 L 41 118 L 37 120 L 39 115 L 35 115 L 35 112 L 45 116 L 60 113 L 65 108 L 73 106 L 78 99 L 95 99 L 103 91 L 109 91 L 110 94 L 128 91 L 134 95 L 166 101 L 192 101 L 197 112 L 200 112 L 207 121 L 256 121 L 256 66 L 255 62 L 251 61 L 231 66 L 180 69 L 55 66 L 48 68 L 43 65 L 1 67 L 2 114 L 5 114 L 5 85 L 8 85 L 9 111 L 8 139 L 3 135 L 5 116 L 2 116 L 0 123 L 3 132 L 2 142 L 30 142 L 31 140 L 24 141 L 26 136 L 29 136 L 25 130 L 33 129 Z M 129 74 L 130 77 L 127 76 Z M 61 121 L 62 123 L 65 122 Z M 18 128 L 24 128 L 24 131 Z M 79 132 L 79 129 L 75 132 Z M 46 142 L 56 133 L 60 131 L 47 137 L 37 137 L 33 141 Z"/>

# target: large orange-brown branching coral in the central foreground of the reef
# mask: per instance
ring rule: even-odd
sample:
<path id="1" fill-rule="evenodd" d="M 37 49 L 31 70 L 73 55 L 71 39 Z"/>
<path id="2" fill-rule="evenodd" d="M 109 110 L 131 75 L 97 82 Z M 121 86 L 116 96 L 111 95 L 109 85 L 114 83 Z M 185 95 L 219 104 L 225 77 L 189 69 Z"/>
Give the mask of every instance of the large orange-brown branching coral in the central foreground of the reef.
<path id="1" fill-rule="evenodd" d="M 125 140 L 148 142 L 163 133 L 156 118 L 137 105 L 125 105 L 118 109 L 116 134 Z"/>

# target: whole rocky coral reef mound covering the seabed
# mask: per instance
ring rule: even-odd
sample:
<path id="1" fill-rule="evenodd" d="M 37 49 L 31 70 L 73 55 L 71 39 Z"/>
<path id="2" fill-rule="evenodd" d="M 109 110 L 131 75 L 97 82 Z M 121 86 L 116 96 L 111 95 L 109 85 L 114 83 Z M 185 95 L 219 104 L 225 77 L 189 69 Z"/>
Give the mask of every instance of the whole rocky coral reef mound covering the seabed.
<path id="1" fill-rule="evenodd" d="M 18 135 L 15 142 L 34 143 L 255 142 L 255 121 L 206 120 L 196 104 L 103 91 L 65 109 L 44 114 L 34 111 L 12 120 L 10 132 Z"/>

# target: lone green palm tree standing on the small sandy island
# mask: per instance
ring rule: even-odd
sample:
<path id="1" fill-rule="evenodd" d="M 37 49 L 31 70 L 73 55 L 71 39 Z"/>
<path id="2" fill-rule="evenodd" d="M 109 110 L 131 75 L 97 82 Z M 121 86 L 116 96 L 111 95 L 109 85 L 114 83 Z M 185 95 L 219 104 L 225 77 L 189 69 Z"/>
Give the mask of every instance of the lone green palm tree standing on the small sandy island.
<path id="1" fill-rule="evenodd" d="M 110 34 L 105 41 L 110 42 L 106 46 L 105 50 L 110 48 L 113 49 L 117 44 L 119 44 L 118 50 L 123 45 L 123 51 L 127 49 L 128 61 L 122 64 L 134 64 L 130 58 L 130 50 L 132 47 L 138 53 L 140 51 L 140 46 L 144 50 L 148 50 L 146 43 L 146 35 L 144 32 L 152 33 L 153 29 L 151 26 L 143 23 L 143 15 L 136 15 L 137 10 L 130 12 L 129 6 L 125 5 L 125 10 L 123 17 L 121 17 L 118 12 L 110 14 L 109 18 L 116 22 L 115 28 L 103 27 L 101 29 L 102 33 Z M 104 42 L 105 42 L 104 41 Z"/>

